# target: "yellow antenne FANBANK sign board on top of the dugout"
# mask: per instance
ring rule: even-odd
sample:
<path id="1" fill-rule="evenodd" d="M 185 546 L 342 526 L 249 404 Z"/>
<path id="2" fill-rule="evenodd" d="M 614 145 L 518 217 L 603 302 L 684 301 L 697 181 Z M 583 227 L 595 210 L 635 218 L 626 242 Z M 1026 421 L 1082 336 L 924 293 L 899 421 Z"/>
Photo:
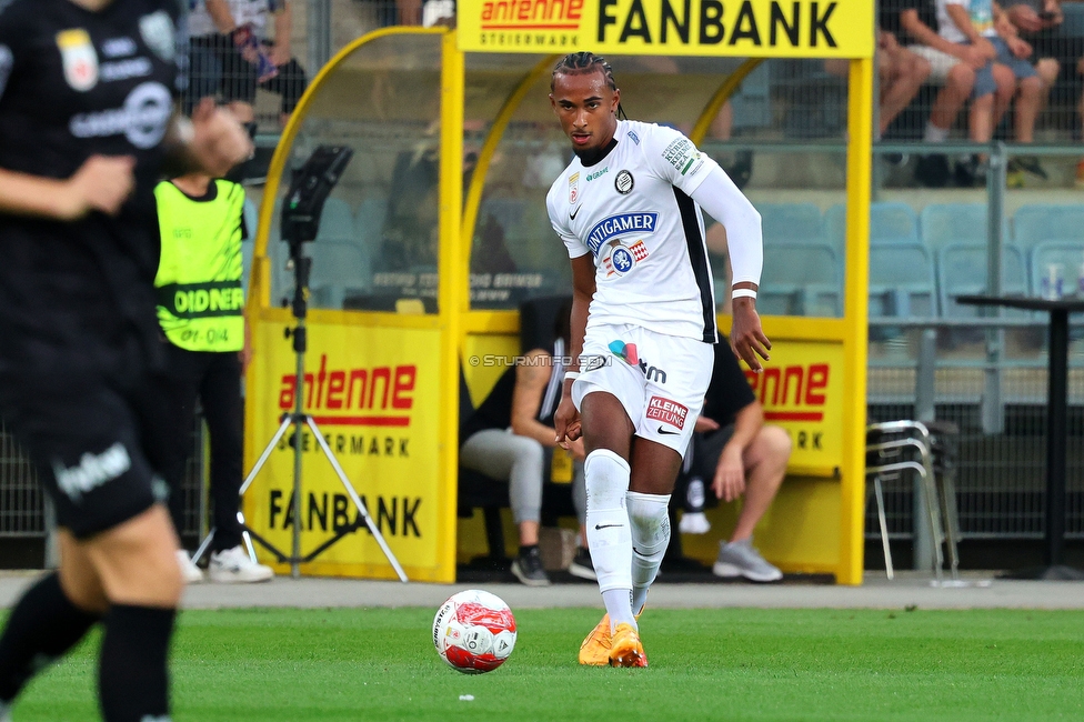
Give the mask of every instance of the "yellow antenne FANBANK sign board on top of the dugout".
<path id="1" fill-rule="evenodd" d="M 872 0 L 459 0 L 464 52 L 872 58 Z"/>

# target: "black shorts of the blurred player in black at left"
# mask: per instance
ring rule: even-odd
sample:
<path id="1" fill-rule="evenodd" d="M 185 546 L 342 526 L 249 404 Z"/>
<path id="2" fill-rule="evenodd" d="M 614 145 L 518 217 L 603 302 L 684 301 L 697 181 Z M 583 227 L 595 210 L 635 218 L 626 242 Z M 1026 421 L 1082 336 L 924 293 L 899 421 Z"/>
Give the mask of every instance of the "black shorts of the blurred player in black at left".
<path id="1" fill-rule="evenodd" d="M 123 380 L 0 375 L 4 421 L 52 498 L 58 524 L 77 539 L 133 519 L 168 493 L 155 472 L 168 452 L 165 381 L 144 370 L 140 353 L 126 355 L 132 363 Z"/>

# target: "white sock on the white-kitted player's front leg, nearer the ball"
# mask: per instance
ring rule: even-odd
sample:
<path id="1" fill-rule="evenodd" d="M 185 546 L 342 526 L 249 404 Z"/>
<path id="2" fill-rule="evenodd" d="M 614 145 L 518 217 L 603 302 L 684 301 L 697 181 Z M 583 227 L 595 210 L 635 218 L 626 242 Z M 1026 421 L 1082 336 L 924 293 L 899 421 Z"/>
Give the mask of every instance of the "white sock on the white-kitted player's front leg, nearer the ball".
<path id="1" fill-rule="evenodd" d="M 611 630 L 636 626 L 632 614 L 632 534 L 625 492 L 629 462 L 609 449 L 595 449 L 583 462 L 588 489 L 588 546 L 599 578 Z"/>

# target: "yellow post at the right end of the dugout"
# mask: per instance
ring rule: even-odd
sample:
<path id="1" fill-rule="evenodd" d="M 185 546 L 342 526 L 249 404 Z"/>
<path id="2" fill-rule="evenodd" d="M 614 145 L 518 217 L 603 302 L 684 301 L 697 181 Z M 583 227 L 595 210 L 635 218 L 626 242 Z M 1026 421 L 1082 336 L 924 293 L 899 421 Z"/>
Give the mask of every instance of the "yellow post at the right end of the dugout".
<path id="1" fill-rule="evenodd" d="M 861 584 L 865 512 L 866 363 L 869 351 L 870 166 L 873 146 L 873 59 L 851 61 L 847 92 L 846 289 L 844 295 L 843 480 L 840 504 L 841 584 Z"/>

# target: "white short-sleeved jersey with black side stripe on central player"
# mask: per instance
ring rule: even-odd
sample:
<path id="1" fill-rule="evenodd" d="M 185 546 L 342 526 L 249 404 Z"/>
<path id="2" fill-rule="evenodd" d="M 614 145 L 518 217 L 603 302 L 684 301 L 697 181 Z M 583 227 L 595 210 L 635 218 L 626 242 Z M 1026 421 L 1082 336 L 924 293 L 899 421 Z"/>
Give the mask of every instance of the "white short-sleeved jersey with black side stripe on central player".
<path id="1" fill-rule="evenodd" d="M 704 221 L 691 195 L 717 164 L 653 123 L 618 121 L 614 140 L 593 166 L 573 159 L 546 195 L 569 257 L 594 254 L 588 328 L 633 323 L 715 343 Z"/>

